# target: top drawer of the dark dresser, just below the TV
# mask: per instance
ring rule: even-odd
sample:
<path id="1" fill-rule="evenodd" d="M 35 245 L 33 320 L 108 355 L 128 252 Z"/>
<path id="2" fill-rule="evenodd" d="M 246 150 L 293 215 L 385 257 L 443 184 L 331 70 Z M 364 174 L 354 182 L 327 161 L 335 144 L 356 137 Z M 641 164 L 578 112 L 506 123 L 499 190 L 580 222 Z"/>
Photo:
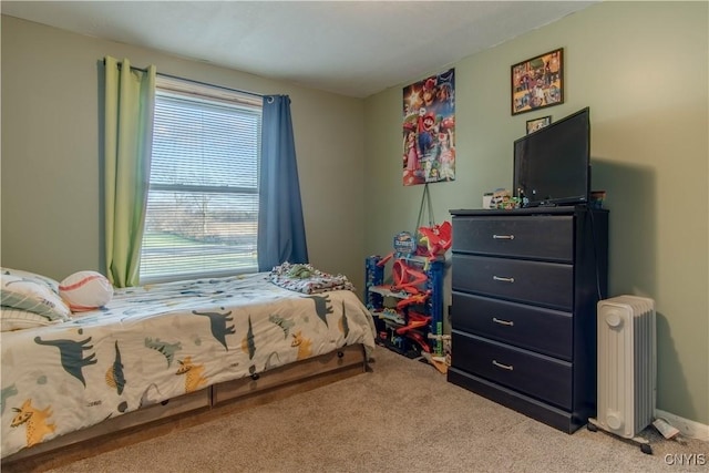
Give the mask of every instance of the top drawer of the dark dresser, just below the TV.
<path id="1" fill-rule="evenodd" d="M 571 263 L 574 217 L 453 217 L 453 253 Z"/>

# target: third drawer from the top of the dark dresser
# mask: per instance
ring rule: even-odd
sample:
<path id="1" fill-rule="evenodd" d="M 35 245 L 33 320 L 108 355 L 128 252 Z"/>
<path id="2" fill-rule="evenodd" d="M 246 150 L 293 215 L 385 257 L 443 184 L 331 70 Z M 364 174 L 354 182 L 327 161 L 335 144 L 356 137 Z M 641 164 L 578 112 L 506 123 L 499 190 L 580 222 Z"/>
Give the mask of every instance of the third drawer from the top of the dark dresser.
<path id="1" fill-rule="evenodd" d="M 569 312 L 453 291 L 452 327 L 504 343 L 572 360 Z"/>

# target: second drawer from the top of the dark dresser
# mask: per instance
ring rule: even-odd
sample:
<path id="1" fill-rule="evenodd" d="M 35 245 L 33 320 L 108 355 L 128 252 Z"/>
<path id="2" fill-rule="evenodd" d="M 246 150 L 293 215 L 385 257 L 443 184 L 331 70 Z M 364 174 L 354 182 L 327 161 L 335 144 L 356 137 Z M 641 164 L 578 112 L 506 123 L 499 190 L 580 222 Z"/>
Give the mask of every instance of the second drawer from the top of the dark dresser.
<path id="1" fill-rule="evenodd" d="M 453 290 L 572 310 L 574 267 L 453 254 Z"/>

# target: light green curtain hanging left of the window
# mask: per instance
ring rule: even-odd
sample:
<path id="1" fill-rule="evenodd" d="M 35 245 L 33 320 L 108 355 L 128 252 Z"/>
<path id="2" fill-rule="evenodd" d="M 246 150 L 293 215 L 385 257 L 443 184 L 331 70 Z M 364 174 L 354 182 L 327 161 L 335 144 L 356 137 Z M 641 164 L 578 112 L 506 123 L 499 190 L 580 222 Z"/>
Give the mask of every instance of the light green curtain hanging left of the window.
<path id="1" fill-rule="evenodd" d="M 151 174 L 155 66 L 132 69 L 106 56 L 104 188 L 106 276 L 136 286 Z"/>

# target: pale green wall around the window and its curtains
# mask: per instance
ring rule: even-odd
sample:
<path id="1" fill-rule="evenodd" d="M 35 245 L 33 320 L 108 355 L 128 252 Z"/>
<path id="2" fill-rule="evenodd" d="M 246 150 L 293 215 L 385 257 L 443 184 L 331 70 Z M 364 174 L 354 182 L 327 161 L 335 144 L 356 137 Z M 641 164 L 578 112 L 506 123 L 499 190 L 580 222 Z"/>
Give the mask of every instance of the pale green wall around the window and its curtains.
<path id="1" fill-rule="evenodd" d="M 2 265 L 103 270 L 99 62 L 288 94 L 310 263 L 363 284 L 363 102 L 2 17 Z"/>

